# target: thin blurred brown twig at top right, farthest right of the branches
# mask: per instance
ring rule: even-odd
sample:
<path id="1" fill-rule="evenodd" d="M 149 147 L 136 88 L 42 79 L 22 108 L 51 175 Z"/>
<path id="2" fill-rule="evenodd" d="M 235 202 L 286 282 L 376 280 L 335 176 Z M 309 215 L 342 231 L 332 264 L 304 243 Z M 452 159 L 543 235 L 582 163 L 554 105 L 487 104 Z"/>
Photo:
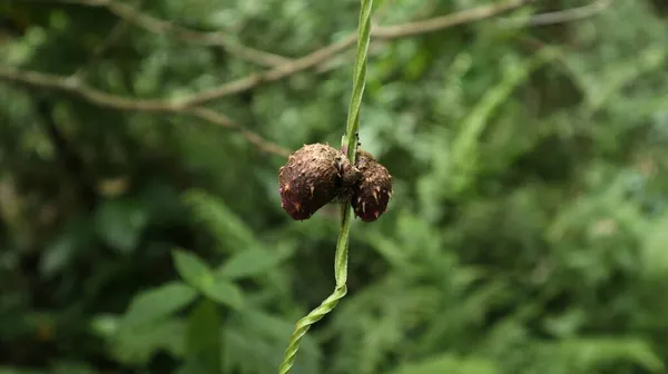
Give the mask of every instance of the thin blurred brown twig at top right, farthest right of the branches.
<path id="1" fill-rule="evenodd" d="M 527 18 L 511 18 L 501 20 L 504 27 L 534 27 L 556 23 L 566 23 L 595 17 L 610 8 L 612 0 L 598 0 L 590 4 L 553 11 L 549 13 L 534 14 Z"/>

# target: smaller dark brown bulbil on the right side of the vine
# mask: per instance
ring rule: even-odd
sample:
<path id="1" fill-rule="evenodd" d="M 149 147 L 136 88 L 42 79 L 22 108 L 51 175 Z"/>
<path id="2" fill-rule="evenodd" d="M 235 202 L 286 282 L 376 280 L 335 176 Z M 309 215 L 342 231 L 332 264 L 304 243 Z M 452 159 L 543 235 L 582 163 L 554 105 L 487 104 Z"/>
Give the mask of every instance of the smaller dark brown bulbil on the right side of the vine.
<path id="1" fill-rule="evenodd" d="M 362 178 L 353 188 L 353 210 L 362 220 L 374 222 L 385 213 L 392 198 L 392 176 L 370 152 L 362 149 L 357 150 L 355 166 L 362 173 Z"/>

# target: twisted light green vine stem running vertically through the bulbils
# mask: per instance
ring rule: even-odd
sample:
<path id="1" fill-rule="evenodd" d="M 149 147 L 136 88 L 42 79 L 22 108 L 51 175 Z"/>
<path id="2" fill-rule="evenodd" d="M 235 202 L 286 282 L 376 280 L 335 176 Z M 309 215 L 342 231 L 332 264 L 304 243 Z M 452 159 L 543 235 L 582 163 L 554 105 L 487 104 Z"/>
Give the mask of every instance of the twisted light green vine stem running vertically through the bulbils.
<path id="1" fill-rule="evenodd" d="M 366 85 L 366 60 L 369 55 L 369 43 L 371 41 L 371 12 L 373 0 L 361 0 L 360 22 L 357 26 L 357 53 L 355 57 L 355 67 L 353 71 L 353 95 L 348 107 L 346 121 L 346 132 L 343 137 L 342 149 L 346 152 L 351 163 L 355 163 L 357 150 L 357 129 L 360 128 L 360 109 L 362 107 L 362 96 Z M 336 253 L 334 255 L 334 276 L 336 287 L 318 307 L 308 313 L 307 316 L 299 319 L 295 326 L 285 356 L 279 367 L 279 374 L 287 374 L 293 367 L 302 338 L 311 325 L 321 321 L 327 313 L 332 312 L 338 302 L 347 293 L 347 257 L 348 257 L 348 237 L 352 223 L 352 207 L 350 201 L 341 204 L 341 230 L 336 240 Z"/>

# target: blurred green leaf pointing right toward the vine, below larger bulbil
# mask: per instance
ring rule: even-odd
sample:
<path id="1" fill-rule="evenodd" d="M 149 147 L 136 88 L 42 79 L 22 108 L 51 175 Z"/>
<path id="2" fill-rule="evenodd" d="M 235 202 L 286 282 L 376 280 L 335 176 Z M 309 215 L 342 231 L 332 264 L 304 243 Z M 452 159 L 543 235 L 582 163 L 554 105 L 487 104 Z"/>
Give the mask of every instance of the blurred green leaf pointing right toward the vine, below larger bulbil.
<path id="1" fill-rule="evenodd" d="M 248 249 L 232 256 L 220 268 L 217 275 L 238 279 L 261 275 L 274 268 L 282 260 L 287 258 L 292 250 L 268 252 L 265 249 Z"/>

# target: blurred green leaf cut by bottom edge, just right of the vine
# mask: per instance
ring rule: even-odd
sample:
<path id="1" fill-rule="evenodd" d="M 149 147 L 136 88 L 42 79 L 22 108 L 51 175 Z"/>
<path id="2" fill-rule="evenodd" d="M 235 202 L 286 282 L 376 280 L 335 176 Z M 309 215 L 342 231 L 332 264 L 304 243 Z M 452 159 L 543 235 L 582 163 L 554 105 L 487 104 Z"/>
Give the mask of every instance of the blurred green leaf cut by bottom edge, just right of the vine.
<path id="1" fill-rule="evenodd" d="M 499 373 L 497 366 L 484 358 L 461 358 L 454 355 L 443 355 L 428 358 L 420 363 L 407 364 L 391 374 L 446 374 L 446 373 Z"/>

